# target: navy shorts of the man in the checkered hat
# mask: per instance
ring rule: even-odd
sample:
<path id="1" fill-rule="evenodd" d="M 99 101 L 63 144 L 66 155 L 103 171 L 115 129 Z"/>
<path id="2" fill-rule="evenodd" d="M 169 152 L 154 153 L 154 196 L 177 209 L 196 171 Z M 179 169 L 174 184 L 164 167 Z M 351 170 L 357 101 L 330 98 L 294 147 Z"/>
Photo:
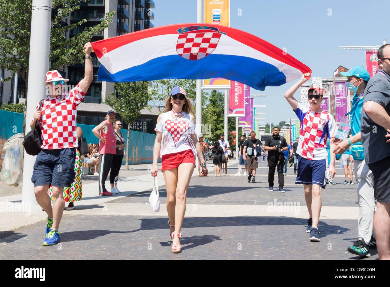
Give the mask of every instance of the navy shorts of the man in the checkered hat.
<path id="1" fill-rule="evenodd" d="M 52 184 L 56 187 L 68 187 L 74 180 L 74 161 L 76 148 L 56 150 L 42 149 L 38 153 L 31 181 L 35 186 Z"/>

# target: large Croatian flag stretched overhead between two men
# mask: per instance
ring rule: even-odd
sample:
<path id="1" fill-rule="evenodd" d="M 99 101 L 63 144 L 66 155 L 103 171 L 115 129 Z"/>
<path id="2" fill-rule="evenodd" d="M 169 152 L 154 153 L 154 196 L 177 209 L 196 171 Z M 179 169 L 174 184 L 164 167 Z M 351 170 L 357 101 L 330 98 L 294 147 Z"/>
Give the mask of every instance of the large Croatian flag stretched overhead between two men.
<path id="1" fill-rule="evenodd" d="M 100 81 L 222 77 L 264 90 L 310 72 L 305 64 L 247 32 L 222 25 L 161 26 L 92 43 Z"/>

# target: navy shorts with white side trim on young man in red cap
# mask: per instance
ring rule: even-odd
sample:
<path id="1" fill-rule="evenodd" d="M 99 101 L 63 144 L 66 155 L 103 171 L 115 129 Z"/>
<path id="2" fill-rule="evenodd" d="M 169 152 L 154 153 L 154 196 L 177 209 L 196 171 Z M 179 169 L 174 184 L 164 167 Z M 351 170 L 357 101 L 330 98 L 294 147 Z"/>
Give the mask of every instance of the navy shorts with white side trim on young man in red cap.
<path id="1" fill-rule="evenodd" d="M 317 184 L 326 187 L 326 172 L 328 169 L 328 160 L 310 160 L 304 157 L 298 159 L 298 170 L 296 184 Z"/>

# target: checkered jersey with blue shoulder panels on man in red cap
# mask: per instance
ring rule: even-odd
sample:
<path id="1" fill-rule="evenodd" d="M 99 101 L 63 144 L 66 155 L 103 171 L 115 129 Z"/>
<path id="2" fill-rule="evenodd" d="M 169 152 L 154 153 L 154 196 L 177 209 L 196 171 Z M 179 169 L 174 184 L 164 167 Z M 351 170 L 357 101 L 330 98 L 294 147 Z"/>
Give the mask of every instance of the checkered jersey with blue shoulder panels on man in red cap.
<path id="1" fill-rule="evenodd" d="M 337 134 L 336 121 L 326 111 L 314 112 L 298 103 L 294 111 L 301 121 L 299 143 L 296 152 L 305 159 L 327 159 L 326 141 Z"/>

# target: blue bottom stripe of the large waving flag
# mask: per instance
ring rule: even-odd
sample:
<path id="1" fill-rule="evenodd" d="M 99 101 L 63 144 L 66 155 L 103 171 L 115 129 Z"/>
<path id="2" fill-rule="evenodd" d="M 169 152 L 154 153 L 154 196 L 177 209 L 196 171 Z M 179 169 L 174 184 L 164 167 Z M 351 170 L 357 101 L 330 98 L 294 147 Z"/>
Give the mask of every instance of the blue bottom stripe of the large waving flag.
<path id="1" fill-rule="evenodd" d="M 214 67 L 215 63 L 218 63 L 218 67 Z M 238 71 L 232 67 L 239 67 Z M 280 86 L 286 83 L 284 73 L 267 62 L 249 57 L 218 54 L 210 54 L 200 60 L 187 60 L 179 55 L 158 57 L 115 74 L 111 74 L 101 65 L 97 76 L 99 81 L 107 82 L 222 77 L 261 91 L 264 91 L 266 86 Z"/>

